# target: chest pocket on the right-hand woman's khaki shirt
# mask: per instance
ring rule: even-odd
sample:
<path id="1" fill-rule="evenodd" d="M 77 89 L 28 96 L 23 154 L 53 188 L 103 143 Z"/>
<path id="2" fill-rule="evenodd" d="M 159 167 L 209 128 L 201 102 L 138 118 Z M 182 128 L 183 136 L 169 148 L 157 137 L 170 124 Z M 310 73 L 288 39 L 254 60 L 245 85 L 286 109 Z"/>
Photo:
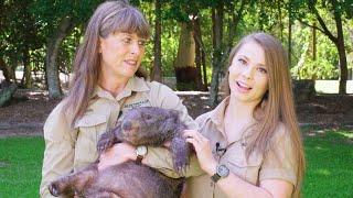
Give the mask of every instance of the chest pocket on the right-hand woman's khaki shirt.
<path id="1" fill-rule="evenodd" d="M 246 160 L 245 147 L 242 145 L 238 145 L 237 150 L 231 153 L 232 155 L 226 160 L 229 170 L 242 179 L 256 185 L 261 166 L 261 157 L 257 154 L 252 154 L 249 158 Z"/>

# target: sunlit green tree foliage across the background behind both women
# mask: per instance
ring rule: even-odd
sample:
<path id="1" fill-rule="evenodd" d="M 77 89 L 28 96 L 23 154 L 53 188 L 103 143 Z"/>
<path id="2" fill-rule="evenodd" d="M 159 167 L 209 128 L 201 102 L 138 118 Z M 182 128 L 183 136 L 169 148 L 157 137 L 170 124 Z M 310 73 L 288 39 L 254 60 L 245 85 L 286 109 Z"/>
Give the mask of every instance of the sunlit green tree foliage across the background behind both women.
<path id="1" fill-rule="evenodd" d="M 84 28 L 100 2 L 0 1 L 0 69 L 13 80 L 14 70 L 23 66 L 26 75 L 22 84 L 26 87 L 39 85 L 36 80 L 45 84 L 43 76 L 58 81 L 58 72 L 72 72 Z M 145 13 L 152 28 L 142 66 L 151 72 L 156 61 L 160 62 L 161 76 L 175 76 L 180 24 L 192 24 L 197 78 L 201 77 L 204 85 L 211 80 L 213 105 L 218 102 L 218 82 L 226 73 L 229 50 L 243 35 L 255 31 L 271 33 L 287 46 L 293 78 L 340 79 L 340 91 L 344 92 L 343 84 L 353 67 L 353 3 L 350 0 L 158 0 L 160 10 L 156 10 L 157 0 L 130 2 Z M 57 31 L 64 19 L 69 25 L 60 37 Z M 157 19 L 161 28 L 159 36 L 154 31 Z M 195 34 L 195 19 L 200 35 Z M 160 40 L 160 53 L 156 51 L 157 40 Z M 60 89 L 60 84 L 56 88 Z"/>

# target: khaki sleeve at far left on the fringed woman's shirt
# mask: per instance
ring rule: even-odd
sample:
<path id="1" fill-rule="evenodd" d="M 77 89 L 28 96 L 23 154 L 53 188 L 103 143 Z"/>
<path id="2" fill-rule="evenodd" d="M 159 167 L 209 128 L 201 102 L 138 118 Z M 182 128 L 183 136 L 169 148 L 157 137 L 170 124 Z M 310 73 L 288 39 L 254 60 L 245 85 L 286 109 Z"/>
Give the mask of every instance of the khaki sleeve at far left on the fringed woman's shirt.
<path id="1" fill-rule="evenodd" d="M 71 129 L 63 112 L 63 102 L 61 102 L 51 112 L 44 124 L 45 150 L 40 186 L 41 197 L 53 197 L 47 189 L 47 185 L 73 169 L 75 147 L 73 136 L 75 134 L 77 133 Z"/>

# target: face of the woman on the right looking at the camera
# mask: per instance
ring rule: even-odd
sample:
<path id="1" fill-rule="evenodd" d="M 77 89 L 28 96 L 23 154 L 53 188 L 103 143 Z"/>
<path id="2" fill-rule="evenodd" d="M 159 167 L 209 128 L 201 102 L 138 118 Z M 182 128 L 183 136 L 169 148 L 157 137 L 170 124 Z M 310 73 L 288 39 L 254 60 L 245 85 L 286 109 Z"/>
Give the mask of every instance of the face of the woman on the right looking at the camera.
<path id="1" fill-rule="evenodd" d="M 257 105 L 268 89 L 268 74 L 263 47 L 255 42 L 244 43 L 228 68 L 231 96 Z"/>

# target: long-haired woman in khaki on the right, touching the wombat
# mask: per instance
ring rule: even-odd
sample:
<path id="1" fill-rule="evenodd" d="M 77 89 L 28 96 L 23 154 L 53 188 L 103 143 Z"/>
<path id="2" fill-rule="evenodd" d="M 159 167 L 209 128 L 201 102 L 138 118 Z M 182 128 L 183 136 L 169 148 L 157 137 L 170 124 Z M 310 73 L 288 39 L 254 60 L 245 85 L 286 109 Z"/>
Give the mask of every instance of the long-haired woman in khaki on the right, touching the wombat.
<path id="1" fill-rule="evenodd" d="M 163 148 L 142 163 L 189 177 L 185 197 L 300 197 L 306 163 L 282 45 L 266 33 L 245 36 L 231 52 L 226 79 L 229 96 L 196 118 L 199 131 L 184 133 L 197 157 L 190 168 L 170 172 Z"/>

